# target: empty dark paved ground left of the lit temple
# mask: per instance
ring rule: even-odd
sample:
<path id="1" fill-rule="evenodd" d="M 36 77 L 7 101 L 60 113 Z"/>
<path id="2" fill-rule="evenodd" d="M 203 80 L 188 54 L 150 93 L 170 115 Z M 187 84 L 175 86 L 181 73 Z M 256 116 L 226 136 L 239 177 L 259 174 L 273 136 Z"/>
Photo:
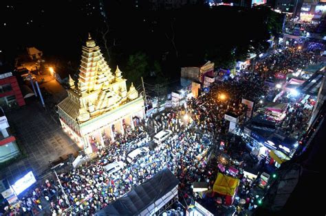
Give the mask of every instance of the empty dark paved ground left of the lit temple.
<path id="1" fill-rule="evenodd" d="M 79 150 L 61 130 L 58 121 L 54 121 L 53 112 L 44 110 L 38 99 L 27 101 L 26 106 L 7 112 L 6 116 L 27 157 L 1 169 L 0 179 L 7 178 L 13 183 L 28 171 L 39 176 L 48 169 L 49 160 Z"/>

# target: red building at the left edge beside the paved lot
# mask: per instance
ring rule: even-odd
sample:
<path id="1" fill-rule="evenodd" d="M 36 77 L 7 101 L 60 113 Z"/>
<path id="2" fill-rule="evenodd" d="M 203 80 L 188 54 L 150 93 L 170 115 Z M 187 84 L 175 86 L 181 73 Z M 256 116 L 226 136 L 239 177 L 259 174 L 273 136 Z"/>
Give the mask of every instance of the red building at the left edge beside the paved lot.
<path id="1" fill-rule="evenodd" d="M 0 106 L 4 109 L 24 106 L 25 100 L 17 78 L 11 72 L 0 74 Z"/>

